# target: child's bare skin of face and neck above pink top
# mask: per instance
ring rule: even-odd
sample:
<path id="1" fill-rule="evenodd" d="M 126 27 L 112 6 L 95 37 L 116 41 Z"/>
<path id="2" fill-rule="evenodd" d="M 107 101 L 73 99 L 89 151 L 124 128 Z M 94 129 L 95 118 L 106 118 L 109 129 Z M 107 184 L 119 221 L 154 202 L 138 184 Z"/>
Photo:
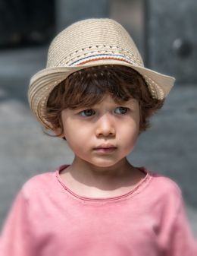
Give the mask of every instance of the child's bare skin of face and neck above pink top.
<path id="1" fill-rule="evenodd" d="M 64 109 L 61 119 L 62 137 L 75 156 L 60 175 L 73 192 L 93 198 L 117 196 L 145 176 L 126 158 L 139 135 L 137 100 L 120 105 L 107 95 L 88 109 Z"/>

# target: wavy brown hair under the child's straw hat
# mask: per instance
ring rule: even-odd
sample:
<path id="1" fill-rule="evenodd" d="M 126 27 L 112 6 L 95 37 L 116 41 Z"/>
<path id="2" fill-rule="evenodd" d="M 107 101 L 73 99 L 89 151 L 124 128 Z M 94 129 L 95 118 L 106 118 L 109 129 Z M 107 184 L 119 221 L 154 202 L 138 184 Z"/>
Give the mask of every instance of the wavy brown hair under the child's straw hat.
<path id="1" fill-rule="evenodd" d="M 100 65 L 70 74 L 52 90 L 45 109 L 45 119 L 52 127 L 61 128 L 63 109 L 90 107 L 109 94 L 117 103 L 130 98 L 139 102 L 139 132 L 149 127 L 149 117 L 163 106 L 164 100 L 153 99 L 143 77 L 132 68 L 122 65 Z M 60 135 L 61 135 L 60 134 Z"/>

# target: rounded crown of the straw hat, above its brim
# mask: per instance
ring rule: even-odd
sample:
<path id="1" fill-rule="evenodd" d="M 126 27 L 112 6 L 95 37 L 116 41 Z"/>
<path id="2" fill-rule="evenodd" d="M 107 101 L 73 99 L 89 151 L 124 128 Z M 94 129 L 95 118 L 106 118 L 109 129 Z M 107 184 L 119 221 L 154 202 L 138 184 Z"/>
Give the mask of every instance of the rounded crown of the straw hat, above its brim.
<path id="1" fill-rule="evenodd" d="M 55 37 L 48 49 L 47 68 L 77 66 L 116 59 L 143 67 L 127 30 L 108 18 L 78 21 Z"/>

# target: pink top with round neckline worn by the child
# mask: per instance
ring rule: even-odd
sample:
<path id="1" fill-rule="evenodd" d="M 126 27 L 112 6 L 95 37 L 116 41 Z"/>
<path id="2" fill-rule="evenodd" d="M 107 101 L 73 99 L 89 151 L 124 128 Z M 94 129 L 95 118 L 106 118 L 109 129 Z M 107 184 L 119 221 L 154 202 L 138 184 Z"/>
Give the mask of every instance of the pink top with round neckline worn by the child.
<path id="1" fill-rule="evenodd" d="M 20 190 L 5 222 L 1 256 L 196 256 L 180 188 L 147 172 L 114 198 L 84 198 L 58 169 Z"/>

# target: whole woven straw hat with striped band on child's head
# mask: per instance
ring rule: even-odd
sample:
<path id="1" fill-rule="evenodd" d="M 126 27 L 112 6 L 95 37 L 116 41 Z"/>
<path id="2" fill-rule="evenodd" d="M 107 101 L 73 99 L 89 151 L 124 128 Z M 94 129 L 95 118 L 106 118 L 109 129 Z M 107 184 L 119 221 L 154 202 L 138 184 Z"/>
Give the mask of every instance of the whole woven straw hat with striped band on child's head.
<path id="1" fill-rule="evenodd" d="M 124 65 L 144 77 L 153 98 L 164 99 L 174 77 L 144 68 L 129 33 L 108 18 L 78 21 L 55 37 L 48 50 L 47 66 L 30 80 L 30 108 L 45 128 L 52 128 L 43 113 L 49 93 L 71 73 L 95 65 Z"/>

